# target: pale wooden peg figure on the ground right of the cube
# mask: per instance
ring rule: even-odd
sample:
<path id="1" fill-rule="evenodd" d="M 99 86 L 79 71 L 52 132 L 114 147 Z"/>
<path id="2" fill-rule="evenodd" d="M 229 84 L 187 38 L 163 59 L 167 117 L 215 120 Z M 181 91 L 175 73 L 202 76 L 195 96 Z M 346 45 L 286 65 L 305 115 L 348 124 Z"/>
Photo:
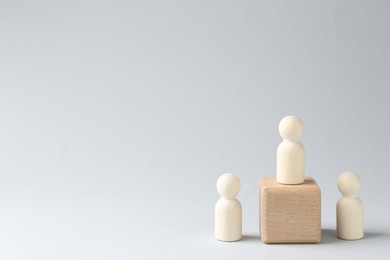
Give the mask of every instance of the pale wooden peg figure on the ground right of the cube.
<path id="1" fill-rule="evenodd" d="M 337 237 L 345 240 L 357 240 L 364 236 L 363 204 L 357 197 L 361 187 L 359 176 L 354 172 L 342 173 L 337 186 L 342 197 L 337 202 Z"/>

